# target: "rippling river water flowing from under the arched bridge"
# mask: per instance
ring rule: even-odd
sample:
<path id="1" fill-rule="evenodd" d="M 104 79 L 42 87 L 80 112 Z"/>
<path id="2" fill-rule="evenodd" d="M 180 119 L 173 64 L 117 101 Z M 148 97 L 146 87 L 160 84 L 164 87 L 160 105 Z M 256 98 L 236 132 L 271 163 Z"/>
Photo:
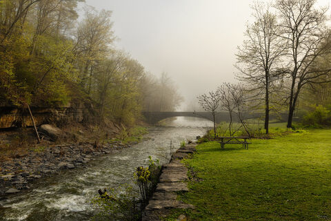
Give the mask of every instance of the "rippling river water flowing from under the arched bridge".
<path id="1" fill-rule="evenodd" d="M 205 119 L 177 117 L 149 128 L 150 140 L 99 157 L 86 167 L 41 178 L 33 189 L 0 201 L 0 220 L 90 220 L 94 215 L 90 200 L 98 189 L 132 184 L 134 170 L 147 166 L 148 156 L 166 163 L 170 142 L 179 148 L 183 140 L 194 140 L 210 126 Z"/>

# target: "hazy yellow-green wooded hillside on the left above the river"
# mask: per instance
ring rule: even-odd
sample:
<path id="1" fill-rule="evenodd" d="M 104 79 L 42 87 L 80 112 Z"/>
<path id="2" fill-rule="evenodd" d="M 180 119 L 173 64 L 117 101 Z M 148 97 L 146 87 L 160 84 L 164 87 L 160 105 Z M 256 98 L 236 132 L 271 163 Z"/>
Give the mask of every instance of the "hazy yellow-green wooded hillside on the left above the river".
<path id="1" fill-rule="evenodd" d="M 125 124 L 143 109 L 173 111 L 181 97 L 169 77 L 114 49 L 110 11 L 86 6 L 78 21 L 80 1 L 0 1 L 1 106 L 89 99 L 101 121 Z"/>

